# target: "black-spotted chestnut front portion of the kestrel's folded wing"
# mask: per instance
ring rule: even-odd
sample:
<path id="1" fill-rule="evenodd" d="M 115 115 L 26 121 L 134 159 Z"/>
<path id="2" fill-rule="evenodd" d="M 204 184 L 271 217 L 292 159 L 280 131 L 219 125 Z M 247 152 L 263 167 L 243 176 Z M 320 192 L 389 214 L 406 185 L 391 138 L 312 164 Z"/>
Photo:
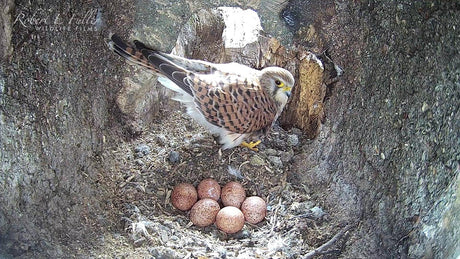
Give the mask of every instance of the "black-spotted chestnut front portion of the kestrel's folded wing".
<path id="1" fill-rule="evenodd" d="M 271 126 L 276 107 L 258 80 L 191 74 L 195 103 L 208 122 L 235 133 Z"/>

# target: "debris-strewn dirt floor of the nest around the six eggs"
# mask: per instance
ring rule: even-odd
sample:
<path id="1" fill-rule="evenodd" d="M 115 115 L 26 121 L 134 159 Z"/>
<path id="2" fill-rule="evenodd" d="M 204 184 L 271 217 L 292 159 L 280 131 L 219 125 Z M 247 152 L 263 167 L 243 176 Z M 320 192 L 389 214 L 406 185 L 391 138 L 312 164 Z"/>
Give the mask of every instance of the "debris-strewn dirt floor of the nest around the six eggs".
<path id="1" fill-rule="evenodd" d="M 345 227 L 317 206 L 303 186 L 286 181 L 291 160 L 306 141 L 300 131 L 276 128 L 259 152 L 243 147 L 220 151 L 213 137 L 182 111 L 163 114 L 140 138 L 107 153 L 107 159 L 116 161 L 107 175 L 116 183 L 114 203 L 124 231 L 106 235 L 106 247 L 93 251 L 93 256 L 293 258 L 306 255 Z M 188 212 L 171 205 L 170 194 L 178 183 L 197 186 L 207 177 L 221 186 L 238 181 L 248 196 L 263 197 L 266 219 L 257 225 L 246 223 L 231 235 L 214 225 L 193 226 Z M 337 241 L 326 254 L 339 253 L 343 239 Z"/>

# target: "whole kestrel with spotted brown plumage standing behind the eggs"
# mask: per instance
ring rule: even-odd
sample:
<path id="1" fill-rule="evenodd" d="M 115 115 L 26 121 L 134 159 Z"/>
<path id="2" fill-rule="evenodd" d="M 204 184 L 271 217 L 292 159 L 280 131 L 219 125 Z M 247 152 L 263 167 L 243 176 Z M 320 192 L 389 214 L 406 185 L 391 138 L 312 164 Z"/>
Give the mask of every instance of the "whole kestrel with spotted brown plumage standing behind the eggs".
<path id="1" fill-rule="evenodd" d="M 174 100 L 188 115 L 217 138 L 221 149 L 244 146 L 258 151 L 260 137 L 268 134 L 283 111 L 294 87 L 288 70 L 271 66 L 261 70 L 239 63 L 211 63 L 187 59 L 126 43 L 112 34 L 109 48 L 131 63 L 158 76 L 176 92 Z"/>

